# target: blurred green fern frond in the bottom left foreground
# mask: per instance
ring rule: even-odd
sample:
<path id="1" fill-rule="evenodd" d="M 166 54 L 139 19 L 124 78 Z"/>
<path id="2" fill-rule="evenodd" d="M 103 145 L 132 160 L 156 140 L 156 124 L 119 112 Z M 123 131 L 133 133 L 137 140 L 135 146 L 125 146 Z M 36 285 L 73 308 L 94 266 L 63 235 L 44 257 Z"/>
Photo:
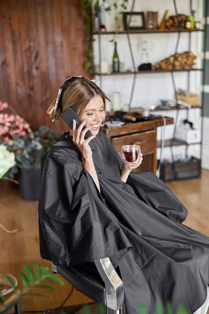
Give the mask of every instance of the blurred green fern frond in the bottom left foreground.
<path id="1" fill-rule="evenodd" d="M 50 283 L 55 282 L 62 285 L 64 284 L 64 282 L 57 275 L 53 274 L 45 265 L 39 267 L 37 263 L 33 262 L 34 270 L 26 263 L 24 263 L 23 266 L 25 272 L 18 271 L 23 285 L 23 290 L 20 292 L 13 279 L 8 274 L 3 274 L 8 283 L 12 286 L 13 292 L 15 295 L 17 295 L 17 297 L 21 298 L 23 295 L 45 297 L 41 293 L 30 292 L 30 290 L 33 288 L 54 290 L 55 288 L 52 287 Z M 16 303 L 17 300 L 6 304 L 5 296 L 0 293 L 0 311 L 4 310 L 6 305 L 12 306 Z"/>

